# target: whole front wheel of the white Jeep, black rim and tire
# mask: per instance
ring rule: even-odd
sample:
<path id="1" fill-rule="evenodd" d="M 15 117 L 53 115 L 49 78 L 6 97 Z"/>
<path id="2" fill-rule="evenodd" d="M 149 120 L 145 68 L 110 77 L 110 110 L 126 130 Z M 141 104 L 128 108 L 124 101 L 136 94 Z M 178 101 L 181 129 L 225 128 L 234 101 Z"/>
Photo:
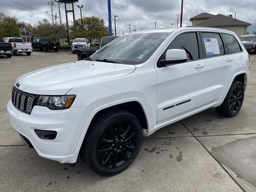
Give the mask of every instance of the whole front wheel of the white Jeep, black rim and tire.
<path id="1" fill-rule="evenodd" d="M 120 109 L 102 112 L 89 129 L 80 155 L 97 174 L 116 175 L 137 157 L 142 143 L 142 128 L 130 112 Z"/>

